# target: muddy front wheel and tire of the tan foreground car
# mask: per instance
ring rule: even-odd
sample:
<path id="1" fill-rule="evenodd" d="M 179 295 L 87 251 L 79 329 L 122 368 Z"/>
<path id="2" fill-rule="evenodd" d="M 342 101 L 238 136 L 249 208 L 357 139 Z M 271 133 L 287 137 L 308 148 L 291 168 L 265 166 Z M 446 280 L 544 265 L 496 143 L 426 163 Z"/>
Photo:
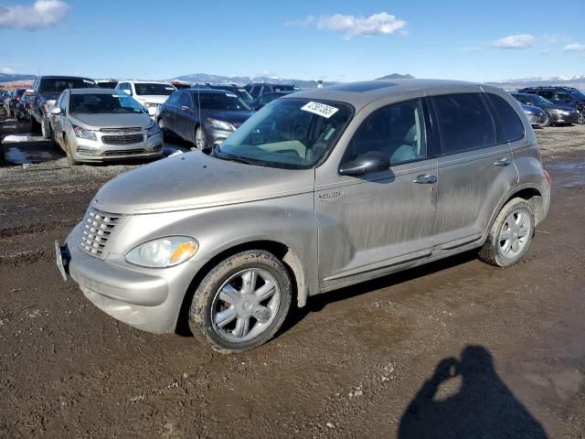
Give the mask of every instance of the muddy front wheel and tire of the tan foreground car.
<path id="1" fill-rule="evenodd" d="M 282 326 L 292 296 L 289 273 L 273 254 L 240 252 L 201 281 L 189 309 L 189 327 L 223 354 L 257 348 Z"/>

